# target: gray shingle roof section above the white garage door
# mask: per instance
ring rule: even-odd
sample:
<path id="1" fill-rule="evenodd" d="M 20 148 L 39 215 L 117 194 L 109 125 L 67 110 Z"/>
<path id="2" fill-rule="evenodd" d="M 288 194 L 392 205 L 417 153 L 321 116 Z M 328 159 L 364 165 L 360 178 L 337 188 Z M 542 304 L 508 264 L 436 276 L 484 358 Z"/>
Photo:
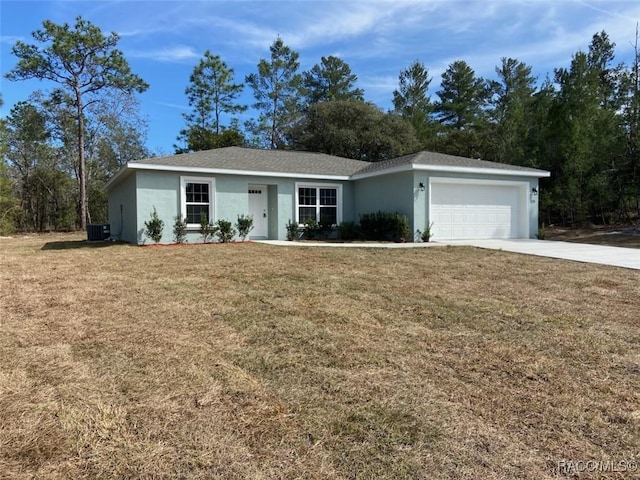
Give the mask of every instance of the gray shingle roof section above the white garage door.
<path id="1" fill-rule="evenodd" d="M 489 170 L 509 170 L 522 171 L 522 173 L 543 173 L 543 170 L 535 168 L 520 167 L 517 165 L 509 165 L 506 163 L 489 162 L 475 158 L 458 157 L 456 155 L 447 155 L 435 152 L 418 152 L 402 157 L 392 158 L 382 162 L 367 163 L 367 165 L 359 170 L 358 174 L 381 172 L 395 167 L 405 165 L 425 165 L 438 167 L 457 167 L 457 168 L 482 168 Z"/>

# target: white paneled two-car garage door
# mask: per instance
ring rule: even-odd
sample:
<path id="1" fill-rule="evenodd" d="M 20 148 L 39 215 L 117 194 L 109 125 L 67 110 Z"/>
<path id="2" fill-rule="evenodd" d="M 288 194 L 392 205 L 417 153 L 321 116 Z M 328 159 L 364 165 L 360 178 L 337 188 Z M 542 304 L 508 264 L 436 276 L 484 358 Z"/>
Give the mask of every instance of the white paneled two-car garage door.
<path id="1" fill-rule="evenodd" d="M 433 182 L 434 240 L 524 236 L 521 192 L 514 185 Z"/>

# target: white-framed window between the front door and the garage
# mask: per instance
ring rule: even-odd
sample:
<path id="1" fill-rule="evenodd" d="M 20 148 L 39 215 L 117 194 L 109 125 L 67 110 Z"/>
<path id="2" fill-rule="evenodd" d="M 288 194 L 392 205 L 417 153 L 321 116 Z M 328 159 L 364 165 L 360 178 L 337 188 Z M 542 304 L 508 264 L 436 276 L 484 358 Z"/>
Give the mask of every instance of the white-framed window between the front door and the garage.
<path id="1" fill-rule="evenodd" d="M 341 185 L 296 185 L 297 221 L 316 221 L 321 225 L 338 225 L 342 216 Z"/>

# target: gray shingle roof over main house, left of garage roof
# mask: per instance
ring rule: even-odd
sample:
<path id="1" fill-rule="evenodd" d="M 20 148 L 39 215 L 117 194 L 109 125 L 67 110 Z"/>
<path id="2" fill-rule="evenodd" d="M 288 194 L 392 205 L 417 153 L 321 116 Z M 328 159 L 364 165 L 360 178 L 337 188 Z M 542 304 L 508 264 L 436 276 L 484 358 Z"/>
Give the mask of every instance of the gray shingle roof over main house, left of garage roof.
<path id="1" fill-rule="evenodd" d="M 301 175 L 351 176 L 369 162 L 326 155 L 324 153 L 263 150 L 257 148 L 226 147 L 184 153 L 171 157 L 152 157 L 131 162 L 174 167 L 243 170 Z"/>

